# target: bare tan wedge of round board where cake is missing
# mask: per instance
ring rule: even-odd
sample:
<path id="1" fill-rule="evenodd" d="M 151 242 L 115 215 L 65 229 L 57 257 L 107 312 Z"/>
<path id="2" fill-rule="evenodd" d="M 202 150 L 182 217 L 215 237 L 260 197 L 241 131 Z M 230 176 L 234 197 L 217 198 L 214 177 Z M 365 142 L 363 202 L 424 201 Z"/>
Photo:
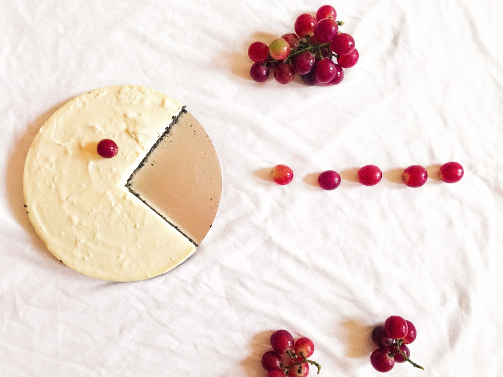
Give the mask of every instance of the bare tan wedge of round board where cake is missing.
<path id="1" fill-rule="evenodd" d="M 185 107 L 131 174 L 126 187 L 196 247 L 201 243 L 216 215 L 222 178 L 208 134 Z"/>

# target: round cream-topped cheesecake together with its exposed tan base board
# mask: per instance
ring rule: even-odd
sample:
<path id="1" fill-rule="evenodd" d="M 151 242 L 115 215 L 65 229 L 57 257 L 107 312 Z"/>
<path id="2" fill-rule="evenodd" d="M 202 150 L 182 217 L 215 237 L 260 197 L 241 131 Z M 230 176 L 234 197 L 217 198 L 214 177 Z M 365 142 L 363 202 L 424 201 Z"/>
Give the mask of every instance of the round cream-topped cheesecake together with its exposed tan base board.
<path id="1" fill-rule="evenodd" d="M 117 144 L 115 157 L 98 154 L 102 139 Z M 142 172 L 147 166 L 156 169 Z M 159 190 L 143 195 L 144 187 Z M 216 214 L 221 172 L 208 135 L 180 102 L 118 85 L 83 93 L 47 120 L 29 149 L 23 191 L 57 259 L 92 277 L 135 281 L 195 252 Z"/>

